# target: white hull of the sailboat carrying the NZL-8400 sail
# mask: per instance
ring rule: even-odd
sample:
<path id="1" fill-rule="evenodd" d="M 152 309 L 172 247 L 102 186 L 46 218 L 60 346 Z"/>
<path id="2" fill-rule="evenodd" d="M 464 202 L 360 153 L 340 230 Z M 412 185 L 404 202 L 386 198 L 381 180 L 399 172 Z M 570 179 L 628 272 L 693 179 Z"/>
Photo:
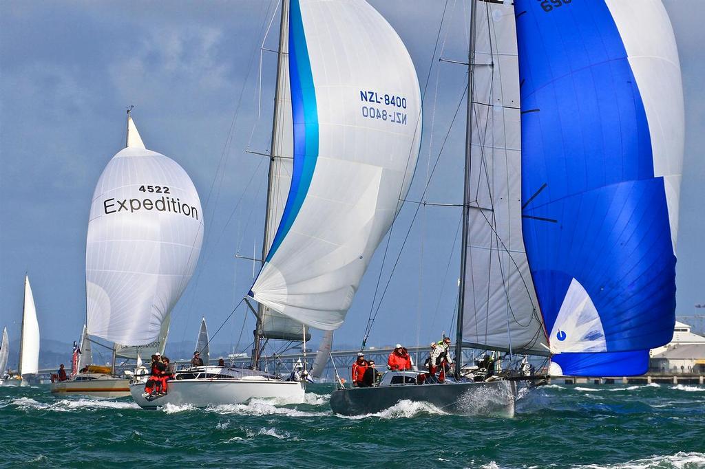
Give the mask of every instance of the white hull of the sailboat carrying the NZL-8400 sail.
<path id="1" fill-rule="evenodd" d="M 194 379 L 168 382 L 168 393 L 149 401 L 142 396 L 145 382 L 130 383 L 130 393 L 137 405 L 154 409 L 173 404 L 195 407 L 245 404 L 253 398 L 281 399 L 287 404 L 302 404 L 305 383 L 268 379 Z"/>

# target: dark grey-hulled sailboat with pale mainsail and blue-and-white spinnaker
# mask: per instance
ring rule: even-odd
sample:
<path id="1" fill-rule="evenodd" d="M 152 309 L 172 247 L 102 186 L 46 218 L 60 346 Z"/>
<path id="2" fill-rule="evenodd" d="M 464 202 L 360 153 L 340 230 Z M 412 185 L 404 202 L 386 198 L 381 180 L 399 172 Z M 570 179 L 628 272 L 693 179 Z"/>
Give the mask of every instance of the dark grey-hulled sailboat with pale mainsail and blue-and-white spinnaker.
<path id="1" fill-rule="evenodd" d="M 641 374 L 675 320 L 678 51 L 658 0 L 554 4 L 472 2 L 455 356 L 469 346 L 550 356 L 551 375 Z M 485 380 L 468 368 L 484 381 L 460 366 L 447 384 L 388 373 L 336 390 L 331 407 L 411 399 L 513 415 L 519 370 Z M 492 399 L 474 399 L 482 388 Z"/>

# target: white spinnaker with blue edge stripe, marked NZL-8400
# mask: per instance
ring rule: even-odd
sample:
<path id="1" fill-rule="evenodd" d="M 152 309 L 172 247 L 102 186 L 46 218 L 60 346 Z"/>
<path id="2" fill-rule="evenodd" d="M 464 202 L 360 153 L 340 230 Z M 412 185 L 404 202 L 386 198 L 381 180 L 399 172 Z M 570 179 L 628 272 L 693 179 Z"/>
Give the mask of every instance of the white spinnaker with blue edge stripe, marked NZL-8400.
<path id="1" fill-rule="evenodd" d="M 409 188 L 421 96 L 408 51 L 372 6 L 290 8 L 293 182 L 250 296 L 333 330 Z"/>

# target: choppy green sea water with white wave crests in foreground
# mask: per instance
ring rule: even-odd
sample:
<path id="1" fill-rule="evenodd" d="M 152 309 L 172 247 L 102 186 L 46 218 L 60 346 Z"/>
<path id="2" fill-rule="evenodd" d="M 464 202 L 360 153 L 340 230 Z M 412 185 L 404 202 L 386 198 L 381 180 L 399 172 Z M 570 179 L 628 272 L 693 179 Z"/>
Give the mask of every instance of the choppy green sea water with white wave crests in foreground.
<path id="1" fill-rule="evenodd" d="M 143 411 L 0 387 L 0 467 L 705 468 L 705 387 L 548 385 L 515 418 L 401 402 L 349 418 L 332 386 L 305 404 L 257 400 Z"/>

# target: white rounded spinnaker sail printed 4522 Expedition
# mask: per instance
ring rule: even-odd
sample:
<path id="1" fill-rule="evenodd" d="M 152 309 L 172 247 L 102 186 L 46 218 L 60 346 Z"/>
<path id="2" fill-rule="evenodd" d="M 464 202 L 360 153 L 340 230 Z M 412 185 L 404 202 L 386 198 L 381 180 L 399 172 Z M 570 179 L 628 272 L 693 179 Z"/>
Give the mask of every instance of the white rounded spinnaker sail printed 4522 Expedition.
<path id="1" fill-rule="evenodd" d="M 157 340 L 203 239 L 203 211 L 190 177 L 141 143 L 128 136 L 135 146 L 108 163 L 88 222 L 88 332 L 117 344 Z"/>

